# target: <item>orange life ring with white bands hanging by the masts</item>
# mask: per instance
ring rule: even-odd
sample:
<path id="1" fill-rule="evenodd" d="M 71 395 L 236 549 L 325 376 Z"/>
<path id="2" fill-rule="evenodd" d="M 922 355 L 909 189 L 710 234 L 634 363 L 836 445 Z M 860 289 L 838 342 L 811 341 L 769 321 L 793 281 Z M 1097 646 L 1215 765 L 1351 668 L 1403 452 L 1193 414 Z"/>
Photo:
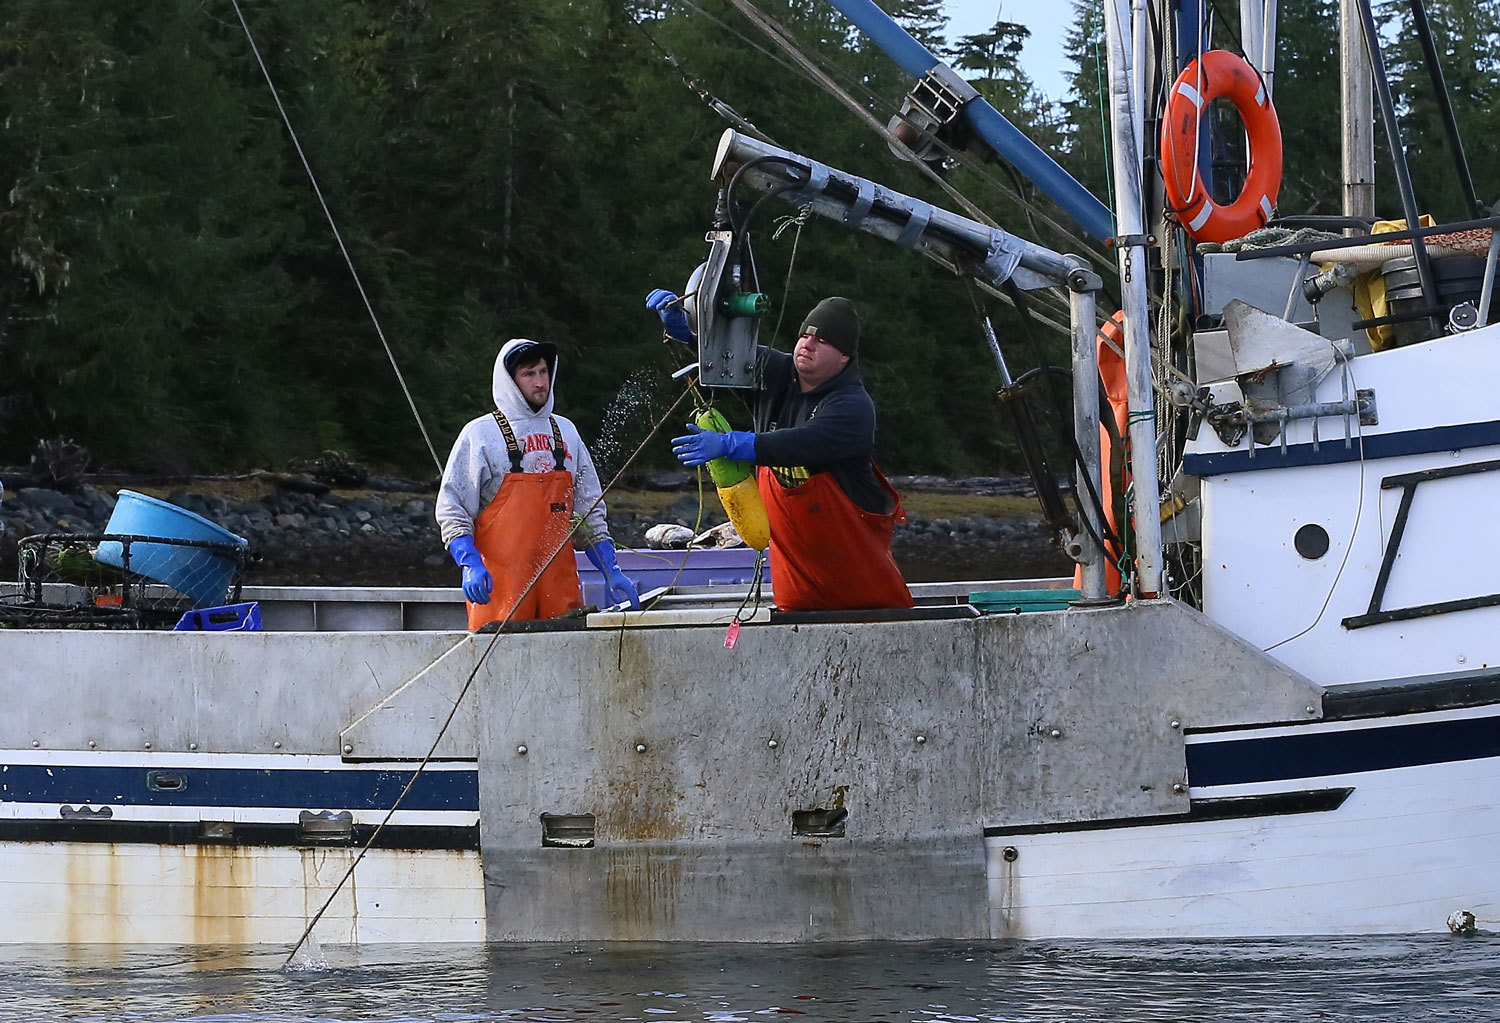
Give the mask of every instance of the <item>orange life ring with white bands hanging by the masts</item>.
<path id="1" fill-rule="evenodd" d="M 1228 242 L 1264 226 L 1281 192 L 1281 123 L 1266 84 L 1244 57 L 1210 50 L 1172 82 L 1161 120 L 1161 177 L 1167 202 L 1197 242 Z M 1198 126 L 1215 99 L 1239 111 L 1250 138 L 1250 172 L 1239 198 L 1218 206 L 1198 174 Z"/>

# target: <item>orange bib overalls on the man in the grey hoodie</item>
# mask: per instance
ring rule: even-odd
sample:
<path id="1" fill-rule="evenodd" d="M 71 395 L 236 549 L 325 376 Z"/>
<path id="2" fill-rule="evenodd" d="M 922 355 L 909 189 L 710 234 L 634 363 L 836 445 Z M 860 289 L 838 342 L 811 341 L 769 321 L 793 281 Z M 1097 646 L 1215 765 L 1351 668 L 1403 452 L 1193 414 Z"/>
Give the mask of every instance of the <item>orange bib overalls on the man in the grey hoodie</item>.
<path id="1" fill-rule="evenodd" d="M 506 438 L 510 472 L 500 492 L 474 522 L 474 546 L 484 558 L 495 588 L 488 604 L 470 603 L 470 632 L 489 621 L 556 618 L 584 606 L 573 530 L 573 474 L 562 468 L 562 430 L 552 420 L 550 472 L 522 472 L 520 446 L 500 411 L 495 423 Z M 536 585 L 531 580 L 536 579 Z M 526 586 L 531 586 L 528 591 Z M 514 608 L 516 614 L 510 614 Z"/>

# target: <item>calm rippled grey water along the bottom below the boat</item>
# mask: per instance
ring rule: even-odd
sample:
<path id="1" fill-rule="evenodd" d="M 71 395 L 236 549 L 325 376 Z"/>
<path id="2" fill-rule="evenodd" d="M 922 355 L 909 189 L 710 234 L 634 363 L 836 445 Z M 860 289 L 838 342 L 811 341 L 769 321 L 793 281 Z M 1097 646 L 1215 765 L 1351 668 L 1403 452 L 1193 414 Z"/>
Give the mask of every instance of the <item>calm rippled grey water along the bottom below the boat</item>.
<path id="1" fill-rule="evenodd" d="M 1500 938 L 986 945 L 0 946 L 4 1020 L 1496 1020 Z"/>

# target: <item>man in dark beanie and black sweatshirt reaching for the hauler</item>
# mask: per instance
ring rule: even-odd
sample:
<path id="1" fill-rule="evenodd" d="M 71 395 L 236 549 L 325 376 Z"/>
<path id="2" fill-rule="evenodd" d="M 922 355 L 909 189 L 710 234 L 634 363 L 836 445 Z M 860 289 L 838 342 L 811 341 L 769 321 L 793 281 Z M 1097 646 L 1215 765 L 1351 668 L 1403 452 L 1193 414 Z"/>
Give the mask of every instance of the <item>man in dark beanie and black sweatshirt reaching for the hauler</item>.
<path id="1" fill-rule="evenodd" d="M 676 296 L 652 291 L 668 334 L 693 334 Z M 754 462 L 771 522 L 771 590 L 783 610 L 910 608 L 891 556 L 906 520 L 900 496 L 874 465 L 874 402 L 860 380 L 860 316 L 848 298 L 824 298 L 802 320 L 790 354 L 759 350 L 754 432 L 690 424 L 672 440 L 682 465 L 716 458 Z"/>

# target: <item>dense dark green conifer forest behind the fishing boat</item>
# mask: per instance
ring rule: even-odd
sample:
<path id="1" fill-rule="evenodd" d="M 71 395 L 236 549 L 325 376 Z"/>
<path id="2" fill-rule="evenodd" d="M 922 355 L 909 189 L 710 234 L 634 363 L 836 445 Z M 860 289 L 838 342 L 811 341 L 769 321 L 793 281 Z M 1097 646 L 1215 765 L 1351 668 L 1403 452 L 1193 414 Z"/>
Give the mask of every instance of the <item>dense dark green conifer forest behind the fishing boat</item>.
<path id="1" fill-rule="evenodd" d="M 910 81 L 830 4 L 758 6 L 876 117 L 894 112 Z M 1024 27 L 954 39 L 936 0 L 884 6 L 1107 196 L 1096 3 L 1058 4 L 1074 69 L 1058 102 L 1020 68 Z M 1496 6 L 1431 6 L 1486 202 L 1500 198 Z M 706 176 L 726 123 L 702 93 L 780 146 L 952 206 L 726 0 L 240 10 L 440 454 L 490 406 L 490 364 L 513 336 L 560 346 L 560 411 L 586 436 L 620 450 L 644 436 L 675 363 L 642 302 L 681 290 L 714 204 Z M 1418 194 L 1455 219 L 1466 212 L 1404 10 L 1383 16 Z M 1234 48 L 1234 10 L 1218 14 L 1215 45 Z M 1281 33 L 1280 212 L 1336 213 L 1336 4 L 1284 0 Z M 230 0 L 6 0 L 0 116 L 0 465 L 70 438 L 96 464 L 146 471 L 336 450 L 434 472 Z M 1006 230 L 1108 266 L 1004 164 L 970 159 L 950 180 Z M 966 288 L 828 222 L 772 238 L 772 216 L 758 225 L 777 303 L 762 340 L 790 344 L 824 296 L 860 304 L 888 471 L 1017 468 Z M 990 308 L 1014 369 L 1065 358 L 1062 338 Z M 662 442 L 645 464 L 668 459 Z"/>

